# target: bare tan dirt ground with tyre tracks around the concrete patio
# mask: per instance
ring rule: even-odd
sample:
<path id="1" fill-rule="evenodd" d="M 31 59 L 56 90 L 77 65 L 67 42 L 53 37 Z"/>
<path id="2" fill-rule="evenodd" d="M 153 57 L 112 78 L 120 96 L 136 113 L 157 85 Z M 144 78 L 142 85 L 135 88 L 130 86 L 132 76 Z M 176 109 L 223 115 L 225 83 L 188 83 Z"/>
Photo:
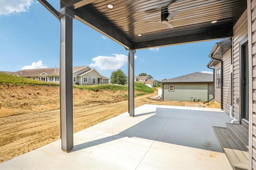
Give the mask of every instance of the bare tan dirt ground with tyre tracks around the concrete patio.
<path id="1" fill-rule="evenodd" d="M 128 111 L 125 90 L 73 89 L 74 133 Z M 198 102 L 156 101 L 157 95 L 135 98 L 143 104 L 198 107 Z M 0 85 L 0 163 L 60 139 L 59 87 Z M 220 108 L 218 103 L 204 107 Z"/>

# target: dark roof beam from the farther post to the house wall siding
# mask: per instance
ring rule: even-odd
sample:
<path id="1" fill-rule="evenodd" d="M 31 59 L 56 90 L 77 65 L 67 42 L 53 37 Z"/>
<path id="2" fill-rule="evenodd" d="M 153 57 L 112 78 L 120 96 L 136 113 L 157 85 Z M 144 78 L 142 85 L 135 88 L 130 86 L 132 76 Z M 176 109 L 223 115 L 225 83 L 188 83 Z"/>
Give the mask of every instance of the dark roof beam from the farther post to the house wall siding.
<path id="1" fill-rule="evenodd" d="M 233 37 L 233 27 L 220 27 L 219 29 L 212 29 L 209 31 L 204 31 L 200 33 L 193 33 L 188 35 L 179 35 L 174 37 L 156 39 L 152 41 L 143 41 L 139 43 L 134 43 L 132 49 L 144 49 L 151 47 L 160 47 L 168 45 L 176 45 L 183 43 L 192 43 L 198 41 L 206 41 L 212 39 L 221 39 Z"/>

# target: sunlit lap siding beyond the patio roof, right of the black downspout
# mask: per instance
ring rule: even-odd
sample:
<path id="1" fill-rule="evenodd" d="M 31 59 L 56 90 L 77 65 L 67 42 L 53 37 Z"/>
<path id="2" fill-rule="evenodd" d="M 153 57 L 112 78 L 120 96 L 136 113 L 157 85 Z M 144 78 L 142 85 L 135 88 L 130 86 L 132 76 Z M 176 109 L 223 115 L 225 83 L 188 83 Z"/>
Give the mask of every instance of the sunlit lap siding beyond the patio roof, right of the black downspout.
<path id="1" fill-rule="evenodd" d="M 231 49 L 222 56 L 223 61 L 223 111 L 230 112 L 230 107 L 227 104 L 232 104 L 231 96 L 231 74 L 230 74 L 230 57 Z"/>

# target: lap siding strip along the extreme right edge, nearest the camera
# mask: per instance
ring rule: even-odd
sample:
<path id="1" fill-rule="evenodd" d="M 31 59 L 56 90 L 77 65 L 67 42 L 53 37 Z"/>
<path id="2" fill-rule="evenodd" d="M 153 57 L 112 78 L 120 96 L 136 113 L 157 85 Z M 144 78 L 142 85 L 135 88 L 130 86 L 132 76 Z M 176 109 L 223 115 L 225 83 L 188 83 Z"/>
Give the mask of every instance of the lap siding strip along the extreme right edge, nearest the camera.
<path id="1" fill-rule="evenodd" d="M 249 23 L 252 29 L 250 30 L 252 31 L 252 120 L 250 120 L 252 121 L 250 124 L 252 125 L 252 152 L 250 155 L 252 154 L 252 168 L 256 170 L 256 0 L 251 0 L 251 22 Z"/>

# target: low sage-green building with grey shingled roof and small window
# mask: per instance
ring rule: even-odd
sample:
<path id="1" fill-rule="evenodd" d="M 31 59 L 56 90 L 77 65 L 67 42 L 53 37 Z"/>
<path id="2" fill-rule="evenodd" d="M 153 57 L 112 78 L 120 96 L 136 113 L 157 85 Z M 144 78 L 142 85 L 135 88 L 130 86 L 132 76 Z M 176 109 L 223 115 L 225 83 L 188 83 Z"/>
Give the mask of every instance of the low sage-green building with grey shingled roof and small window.
<path id="1" fill-rule="evenodd" d="M 213 98 L 213 74 L 195 72 L 160 81 L 163 100 L 194 101 Z"/>

